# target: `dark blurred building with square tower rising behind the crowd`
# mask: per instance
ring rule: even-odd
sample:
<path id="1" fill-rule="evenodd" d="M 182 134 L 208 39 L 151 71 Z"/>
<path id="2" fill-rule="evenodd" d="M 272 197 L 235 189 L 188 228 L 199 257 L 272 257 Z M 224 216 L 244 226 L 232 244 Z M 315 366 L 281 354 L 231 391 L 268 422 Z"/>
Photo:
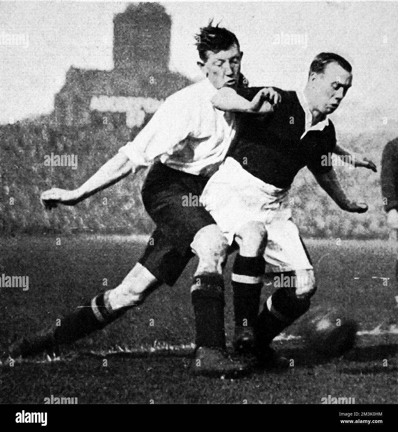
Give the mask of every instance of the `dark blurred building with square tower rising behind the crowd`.
<path id="1" fill-rule="evenodd" d="M 168 68 L 171 19 L 163 6 L 130 4 L 113 24 L 114 69 L 71 67 L 55 95 L 54 126 L 91 124 L 96 111 L 96 123 L 98 113 L 117 113 L 128 127 L 140 127 L 164 98 L 192 83 Z"/>

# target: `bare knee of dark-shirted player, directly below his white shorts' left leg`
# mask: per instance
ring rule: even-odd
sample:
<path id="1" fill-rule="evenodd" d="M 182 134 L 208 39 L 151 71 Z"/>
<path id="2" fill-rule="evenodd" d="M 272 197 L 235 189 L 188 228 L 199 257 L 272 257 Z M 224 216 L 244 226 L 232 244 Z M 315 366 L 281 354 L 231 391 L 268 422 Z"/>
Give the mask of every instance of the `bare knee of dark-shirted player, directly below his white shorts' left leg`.
<path id="1" fill-rule="evenodd" d="M 267 243 L 267 230 L 263 222 L 250 221 L 238 229 L 235 235 L 240 254 L 255 257 L 264 253 Z"/>

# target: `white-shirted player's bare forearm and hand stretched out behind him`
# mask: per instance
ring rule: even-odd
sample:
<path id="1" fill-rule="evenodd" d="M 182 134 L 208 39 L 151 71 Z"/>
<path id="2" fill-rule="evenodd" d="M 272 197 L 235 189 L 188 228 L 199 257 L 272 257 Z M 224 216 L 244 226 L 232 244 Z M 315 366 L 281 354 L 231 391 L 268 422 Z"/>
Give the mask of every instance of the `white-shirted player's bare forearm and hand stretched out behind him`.
<path id="1" fill-rule="evenodd" d="M 74 206 L 98 191 L 106 189 L 130 174 L 135 164 L 122 153 L 117 153 L 77 189 L 69 191 L 53 187 L 42 193 L 41 200 L 45 207 L 56 207 L 57 204 Z"/>

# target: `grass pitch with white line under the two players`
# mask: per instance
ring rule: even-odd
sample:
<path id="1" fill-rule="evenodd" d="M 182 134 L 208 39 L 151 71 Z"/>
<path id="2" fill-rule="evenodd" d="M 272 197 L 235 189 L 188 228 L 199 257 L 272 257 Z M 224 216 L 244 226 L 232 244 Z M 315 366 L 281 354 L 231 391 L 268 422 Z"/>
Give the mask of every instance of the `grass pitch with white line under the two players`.
<path id="1" fill-rule="evenodd" d="M 318 291 L 305 318 L 273 345 L 294 360 L 288 370 L 257 370 L 241 380 L 193 378 L 187 372 L 194 338 L 189 284 L 193 260 L 176 286 L 163 286 L 92 337 L 64 347 L 61 360 L 4 362 L 7 346 L 53 323 L 101 290 L 113 288 L 134 266 L 144 244 L 129 237 L 61 236 L 1 240 L 0 273 L 29 276 L 29 290 L 1 288 L 2 403 L 321 403 L 355 397 L 359 403 L 396 403 L 397 289 L 395 245 L 377 241 L 309 240 Z M 227 281 L 233 257 L 226 268 Z M 105 281 L 106 280 L 106 281 Z M 104 286 L 107 283 L 107 286 Z M 265 301 L 273 286 L 263 288 Z M 226 331 L 233 334 L 231 287 L 226 285 Z M 359 324 L 356 347 L 339 359 L 308 352 L 302 329 L 314 314 L 338 308 Z M 168 345 L 166 345 L 168 344 Z M 170 351 L 167 346 L 186 345 Z M 152 354 L 148 354 L 149 347 Z M 163 347 L 162 349 L 160 349 Z M 141 349 L 142 352 L 139 352 Z M 89 356 L 109 351 L 123 355 Z M 106 361 L 105 361 L 106 360 Z"/>

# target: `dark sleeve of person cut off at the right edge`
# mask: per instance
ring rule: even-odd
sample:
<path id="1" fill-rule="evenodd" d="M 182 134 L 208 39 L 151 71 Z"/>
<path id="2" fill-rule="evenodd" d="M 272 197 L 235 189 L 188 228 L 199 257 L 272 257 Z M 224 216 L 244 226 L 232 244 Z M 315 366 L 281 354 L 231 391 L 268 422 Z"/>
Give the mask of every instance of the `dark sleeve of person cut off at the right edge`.
<path id="1" fill-rule="evenodd" d="M 382 153 L 382 169 L 380 180 L 382 185 L 382 196 L 386 199 L 385 211 L 398 209 L 398 138 L 387 143 Z"/>

